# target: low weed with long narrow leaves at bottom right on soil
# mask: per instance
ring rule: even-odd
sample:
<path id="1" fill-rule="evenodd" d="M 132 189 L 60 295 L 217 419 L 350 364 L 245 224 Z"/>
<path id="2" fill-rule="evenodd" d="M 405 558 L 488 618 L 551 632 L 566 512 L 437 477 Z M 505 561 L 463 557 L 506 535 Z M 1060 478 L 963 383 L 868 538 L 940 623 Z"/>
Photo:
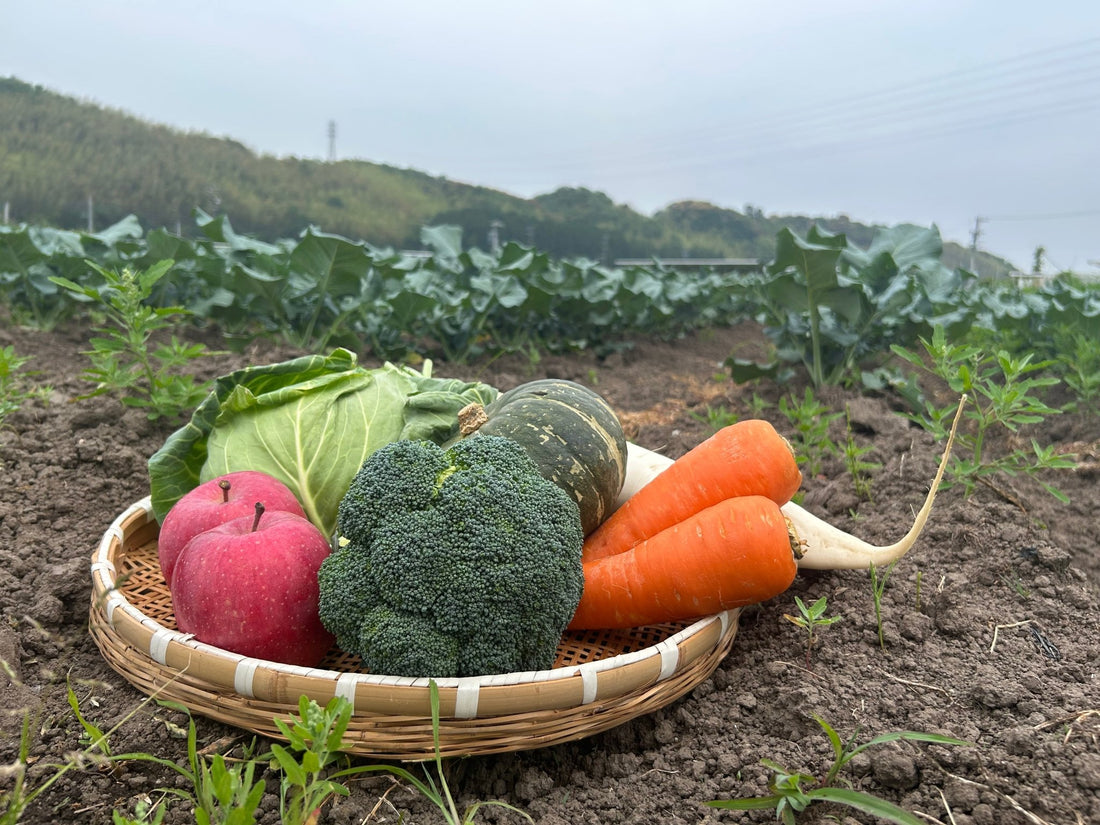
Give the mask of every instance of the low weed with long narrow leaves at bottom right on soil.
<path id="1" fill-rule="evenodd" d="M 881 734 L 875 738 L 856 745 L 858 729 L 847 740 L 842 740 L 836 730 L 823 718 L 815 715 L 814 719 L 821 725 L 822 730 L 828 737 L 833 746 L 833 763 L 829 766 L 825 777 L 820 781 L 809 773 L 792 771 L 771 759 L 760 760 L 763 766 L 773 771 L 773 778 L 769 782 L 771 793 L 767 796 L 744 798 L 736 800 L 716 800 L 707 802 L 711 807 L 724 809 L 727 811 L 767 811 L 774 809 L 776 818 L 784 825 L 795 825 L 798 815 L 805 811 L 815 802 L 834 803 L 847 805 L 872 816 L 878 816 L 898 825 L 923 825 L 924 820 L 916 817 L 892 802 L 875 796 L 851 788 L 837 787 L 840 771 L 851 759 L 867 748 L 884 745 L 887 743 L 909 740 L 924 741 L 934 745 L 971 745 L 971 743 L 956 739 L 949 736 L 937 734 L 923 734 L 915 730 L 899 730 L 890 734 Z M 816 783 L 816 788 L 805 789 L 803 785 L 811 782 Z"/>

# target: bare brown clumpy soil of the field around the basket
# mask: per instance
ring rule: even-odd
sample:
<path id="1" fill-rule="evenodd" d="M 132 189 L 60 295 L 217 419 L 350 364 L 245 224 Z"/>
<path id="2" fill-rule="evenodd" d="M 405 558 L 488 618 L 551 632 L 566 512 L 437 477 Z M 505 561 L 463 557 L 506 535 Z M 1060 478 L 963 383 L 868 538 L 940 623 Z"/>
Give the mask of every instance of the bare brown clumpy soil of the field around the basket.
<path id="1" fill-rule="evenodd" d="M 33 719 L 29 785 L 80 747 L 67 702 L 72 685 L 86 717 L 112 736 L 114 752 L 186 758 L 186 715 L 144 706 L 106 663 L 88 634 L 89 559 L 111 520 L 147 493 L 145 462 L 176 421 L 151 422 L 111 398 L 79 399 L 87 329 L 53 333 L 0 326 L 0 345 L 33 356 L 48 403 L 29 403 L 0 432 L 0 762 L 18 755 L 23 718 Z M 209 339 L 215 340 L 215 339 Z M 791 386 L 737 386 L 722 361 L 752 345 L 751 330 L 713 330 L 672 343 L 637 341 L 622 353 L 504 358 L 442 375 L 506 389 L 535 377 L 571 378 L 600 392 L 639 444 L 676 457 L 710 435 L 708 409 L 750 415 L 752 394 L 771 402 L 762 417 L 787 435 L 777 411 Z M 298 354 L 265 344 L 202 360 L 202 377 Z M 364 356 L 364 363 L 372 363 Z M 934 474 L 939 446 L 899 415 L 888 397 L 829 389 L 834 410 L 851 410 L 867 459 L 871 497 L 856 495 L 839 459 L 805 480 L 803 505 L 876 543 L 905 532 Z M 881 597 L 882 645 L 867 571 L 804 571 L 788 593 L 746 609 L 729 656 L 691 693 L 649 715 L 575 743 L 504 756 L 452 760 L 460 810 L 499 800 L 542 825 L 572 823 L 773 822 L 774 811 L 716 811 L 710 800 L 768 792 L 771 759 L 823 777 L 832 746 L 815 716 L 857 741 L 895 730 L 959 737 L 967 746 L 889 743 L 857 756 L 842 774 L 855 789 L 955 825 L 1100 822 L 1100 427 L 1096 417 L 1059 416 L 1035 435 L 1072 453 L 1077 469 L 1047 477 L 1063 504 L 1031 480 L 1002 477 L 969 498 L 944 491 L 917 546 L 892 571 Z M 834 439 L 843 440 L 843 421 Z M 1026 443 L 1026 441 L 1025 441 Z M 994 449 L 1009 449 L 1002 439 Z M 829 615 L 806 657 L 804 631 L 784 618 L 794 597 L 827 597 Z M 251 737 L 201 717 L 198 747 L 240 755 Z M 414 768 L 415 769 L 415 768 Z M 12 772 L 0 774 L 9 789 Z M 38 796 L 24 823 L 109 823 L 142 799 L 176 787 L 166 769 L 125 762 L 85 765 Z M 813 787 L 812 782 L 806 788 Z M 277 782 L 267 778 L 264 823 L 279 820 Z M 174 800 L 168 823 L 193 822 Z M 351 783 L 322 822 L 427 823 L 439 813 L 406 783 L 384 774 Z M 483 807 L 479 822 L 522 820 Z M 870 823 L 848 807 L 814 804 L 800 822 Z"/>

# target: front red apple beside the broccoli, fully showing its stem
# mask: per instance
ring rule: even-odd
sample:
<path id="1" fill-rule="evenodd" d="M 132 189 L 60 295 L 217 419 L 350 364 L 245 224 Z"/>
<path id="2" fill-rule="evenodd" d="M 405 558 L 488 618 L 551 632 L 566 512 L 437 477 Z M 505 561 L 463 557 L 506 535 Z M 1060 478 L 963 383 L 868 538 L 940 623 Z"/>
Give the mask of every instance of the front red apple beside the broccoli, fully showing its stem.
<path id="1" fill-rule="evenodd" d="M 184 547 L 172 583 L 176 625 L 234 653 L 314 667 L 333 641 L 317 613 L 317 570 L 330 551 L 309 519 L 257 505 Z"/>

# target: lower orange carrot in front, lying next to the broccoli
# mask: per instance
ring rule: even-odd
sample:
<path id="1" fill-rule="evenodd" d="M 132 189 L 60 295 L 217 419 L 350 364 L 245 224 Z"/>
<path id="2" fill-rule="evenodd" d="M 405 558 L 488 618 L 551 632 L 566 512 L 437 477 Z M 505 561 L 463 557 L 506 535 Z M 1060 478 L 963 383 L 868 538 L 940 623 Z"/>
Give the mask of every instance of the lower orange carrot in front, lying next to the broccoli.
<path id="1" fill-rule="evenodd" d="M 779 595 L 798 565 L 787 519 L 765 496 L 700 510 L 629 550 L 584 562 L 571 629 L 694 619 Z"/>

